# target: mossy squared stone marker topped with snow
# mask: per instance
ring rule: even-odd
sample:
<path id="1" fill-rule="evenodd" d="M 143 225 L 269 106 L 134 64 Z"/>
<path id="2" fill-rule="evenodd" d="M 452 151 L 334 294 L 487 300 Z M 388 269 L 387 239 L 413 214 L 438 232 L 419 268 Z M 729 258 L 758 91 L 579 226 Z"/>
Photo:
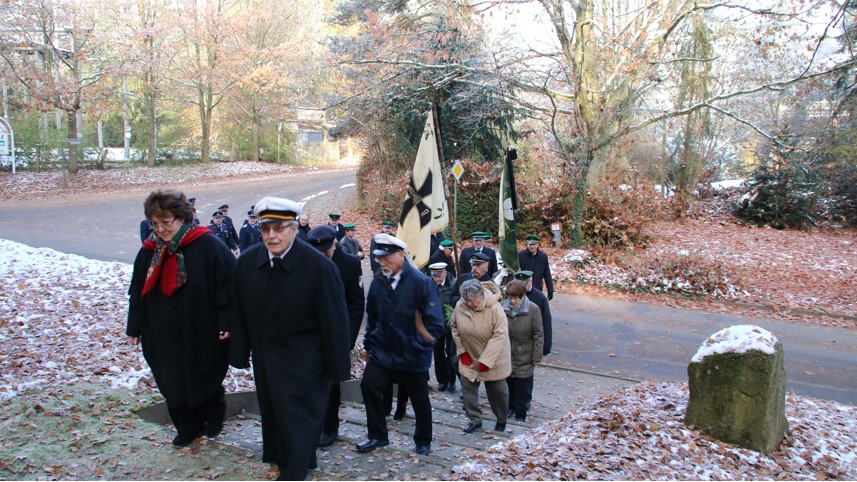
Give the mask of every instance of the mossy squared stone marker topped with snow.
<path id="1" fill-rule="evenodd" d="M 763 453 L 788 433 L 783 345 L 769 331 L 753 325 L 718 331 L 699 347 L 687 376 L 686 425 Z"/>

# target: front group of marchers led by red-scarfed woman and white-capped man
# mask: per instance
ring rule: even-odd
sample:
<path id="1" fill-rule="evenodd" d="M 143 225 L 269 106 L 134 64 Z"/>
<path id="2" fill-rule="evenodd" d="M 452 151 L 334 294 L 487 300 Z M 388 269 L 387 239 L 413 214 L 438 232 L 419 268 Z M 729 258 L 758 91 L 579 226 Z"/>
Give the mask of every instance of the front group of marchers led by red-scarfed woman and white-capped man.
<path id="1" fill-rule="evenodd" d="M 541 294 L 532 288 L 531 271 L 499 285 L 481 281 L 491 260 L 474 250 L 466 258 L 470 273 L 460 280 L 446 261 L 431 263 L 427 276 L 408 260 L 392 223 L 384 223 L 370 245 L 377 271 L 364 298 L 362 249 L 343 249 L 353 234 L 340 236 L 335 213 L 330 223 L 310 228 L 300 204 L 265 197 L 245 223 L 258 226 L 261 241 L 236 259 L 214 230 L 195 222 L 183 193 L 153 191 L 143 207 L 152 232 L 141 235 L 134 262 L 126 335 L 142 345 L 176 428 L 176 447 L 220 434 L 227 368 L 252 366 L 262 460 L 277 465 L 281 480 L 305 479 L 318 466 L 318 447 L 338 439 L 339 383 L 350 377 L 364 312 L 368 433 L 358 452 L 389 444 L 395 383 L 414 410 L 414 452 L 430 453 L 433 354 L 438 389 L 455 391 L 461 383 L 470 418 L 465 432 L 482 426 L 483 382 L 495 430 L 505 430 L 508 417 L 526 419 L 534 367 L 550 351 L 543 310 L 529 294 Z M 440 243 L 438 251 L 448 257 L 448 247 Z"/>

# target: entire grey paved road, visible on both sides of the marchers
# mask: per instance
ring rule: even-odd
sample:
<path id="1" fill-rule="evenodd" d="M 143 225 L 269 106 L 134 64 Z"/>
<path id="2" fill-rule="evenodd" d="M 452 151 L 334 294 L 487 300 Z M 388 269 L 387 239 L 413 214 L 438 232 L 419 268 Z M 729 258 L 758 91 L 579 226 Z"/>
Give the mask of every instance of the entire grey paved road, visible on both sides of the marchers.
<path id="1" fill-rule="evenodd" d="M 345 170 L 219 184 L 190 194 L 198 199 L 203 216 L 229 203 L 240 224 L 242 213 L 265 195 L 310 198 L 307 208 L 314 216 L 323 216 L 328 206 L 347 201 L 354 191 L 353 182 L 354 170 Z M 135 191 L 62 202 L 2 202 L 0 238 L 131 263 L 140 245 L 138 229 L 147 194 Z M 364 265 L 368 276 L 367 260 Z M 562 294 L 551 302 L 551 309 L 554 354 L 548 363 L 637 380 L 686 380 L 687 364 L 706 337 L 731 325 L 753 322 L 783 342 L 790 390 L 857 404 L 855 330 Z"/>

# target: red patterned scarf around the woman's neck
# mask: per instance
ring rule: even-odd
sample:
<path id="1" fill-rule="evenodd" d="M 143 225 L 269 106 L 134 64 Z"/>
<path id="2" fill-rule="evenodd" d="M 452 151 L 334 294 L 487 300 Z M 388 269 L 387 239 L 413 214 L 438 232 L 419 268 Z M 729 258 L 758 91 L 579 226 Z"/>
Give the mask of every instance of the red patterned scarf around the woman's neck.
<path id="1" fill-rule="evenodd" d="M 155 287 L 158 278 L 161 279 L 161 292 L 166 296 L 172 296 L 187 281 L 187 270 L 181 248 L 210 232 L 206 227 L 185 223 L 169 243 L 165 243 L 157 236 L 144 241 L 143 249 L 154 251 L 155 254 L 152 255 L 152 261 L 149 263 L 149 271 L 146 273 L 146 282 L 143 284 L 143 292 L 140 296 L 146 296 L 146 293 Z M 157 239 L 157 243 L 152 238 Z"/>

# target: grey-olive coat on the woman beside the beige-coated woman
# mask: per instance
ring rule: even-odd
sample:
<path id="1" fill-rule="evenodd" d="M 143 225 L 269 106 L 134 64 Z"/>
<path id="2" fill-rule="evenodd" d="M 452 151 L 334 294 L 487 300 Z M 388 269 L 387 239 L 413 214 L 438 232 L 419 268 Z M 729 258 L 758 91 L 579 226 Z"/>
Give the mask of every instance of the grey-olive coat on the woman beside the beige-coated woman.
<path id="1" fill-rule="evenodd" d="M 525 296 L 521 308 L 512 315 L 509 301 L 503 302 L 503 311 L 509 324 L 509 342 L 512 346 L 512 378 L 533 376 L 534 364 L 542 361 L 545 332 L 539 307 Z"/>

